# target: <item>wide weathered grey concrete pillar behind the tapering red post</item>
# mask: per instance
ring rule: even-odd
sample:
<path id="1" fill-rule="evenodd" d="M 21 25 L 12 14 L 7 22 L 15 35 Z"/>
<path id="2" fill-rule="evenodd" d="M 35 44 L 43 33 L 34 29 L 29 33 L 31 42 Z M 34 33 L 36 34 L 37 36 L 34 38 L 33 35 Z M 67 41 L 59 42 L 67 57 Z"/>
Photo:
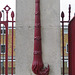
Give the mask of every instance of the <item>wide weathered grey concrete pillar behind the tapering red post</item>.
<path id="1" fill-rule="evenodd" d="M 17 0 L 16 75 L 32 72 L 34 48 L 35 0 Z M 61 75 L 60 69 L 60 1 L 40 0 L 42 51 L 49 75 Z"/>

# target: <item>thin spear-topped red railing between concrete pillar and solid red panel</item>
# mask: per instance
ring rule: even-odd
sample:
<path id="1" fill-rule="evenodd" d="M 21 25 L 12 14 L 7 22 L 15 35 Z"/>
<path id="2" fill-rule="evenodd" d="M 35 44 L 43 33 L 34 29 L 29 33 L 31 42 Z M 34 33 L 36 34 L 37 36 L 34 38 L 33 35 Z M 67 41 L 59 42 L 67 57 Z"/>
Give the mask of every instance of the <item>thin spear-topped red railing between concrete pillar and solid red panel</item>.
<path id="1" fill-rule="evenodd" d="M 65 71 L 64 71 L 64 57 L 65 57 L 65 55 L 64 55 L 64 23 L 68 23 L 69 24 L 69 22 L 70 22 L 70 14 L 71 14 L 71 5 L 69 5 L 69 19 L 68 19 L 68 21 L 64 21 L 64 17 L 65 17 L 65 15 L 64 15 L 64 12 L 62 11 L 62 13 L 61 13 L 61 18 L 62 18 L 62 21 L 60 21 L 60 23 L 62 24 L 62 57 L 63 57 L 63 75 L 65 74 Z M 68 25 L 67 24 L 67 25 Z M 67 37 L 67 39 L 68 39 L 68 37 Z"/>

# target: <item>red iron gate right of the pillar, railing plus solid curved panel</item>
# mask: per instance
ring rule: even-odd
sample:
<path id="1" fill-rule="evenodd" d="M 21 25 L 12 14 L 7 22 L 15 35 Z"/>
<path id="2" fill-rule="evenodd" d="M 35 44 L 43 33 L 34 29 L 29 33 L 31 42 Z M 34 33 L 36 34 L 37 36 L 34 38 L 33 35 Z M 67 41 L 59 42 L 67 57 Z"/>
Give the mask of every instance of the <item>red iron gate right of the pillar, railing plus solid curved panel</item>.
<path id="1" fill-rule="evenodd" d="M 62 21 L 62 55 L 63 55 L 63 75 L 64 72 L 64 23 L 68 23 L 68 60 L 69 60 L 69 75 L 75 75 L 75 15 L 70 21 L 71 5 L 69 5 L 69 19 L 64 21 L 64 12 L 61 13 Z"/>

